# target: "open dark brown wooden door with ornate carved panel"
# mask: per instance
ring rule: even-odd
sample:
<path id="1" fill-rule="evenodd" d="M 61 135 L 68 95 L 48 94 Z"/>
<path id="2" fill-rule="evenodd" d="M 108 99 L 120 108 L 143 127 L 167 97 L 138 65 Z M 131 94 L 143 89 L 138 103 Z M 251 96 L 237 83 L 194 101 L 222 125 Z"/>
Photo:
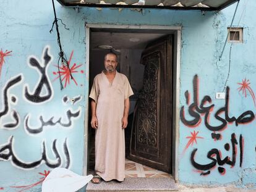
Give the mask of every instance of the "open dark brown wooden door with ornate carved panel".
<path id="1" fill-rule="evenodd" d="M 173 36 L 143 51 L 143 88 L 137 101 L 128 159 L 171 172 Z"/>

